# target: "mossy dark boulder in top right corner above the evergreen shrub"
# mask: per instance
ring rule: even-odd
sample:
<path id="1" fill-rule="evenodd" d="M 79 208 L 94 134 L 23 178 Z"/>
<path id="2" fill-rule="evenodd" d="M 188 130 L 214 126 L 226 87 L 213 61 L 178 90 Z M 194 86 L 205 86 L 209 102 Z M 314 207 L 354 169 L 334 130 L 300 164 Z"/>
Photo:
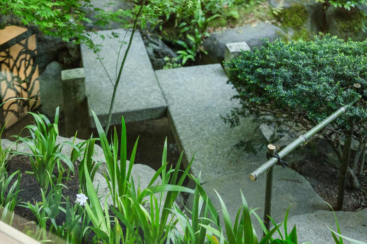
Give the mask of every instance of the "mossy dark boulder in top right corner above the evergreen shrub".
<path id="1" fill-rule="evenodd" d="M 353 41 L 367 38 L 367 32 L 362 30 L 363 24 L 366 25 L 366 18 L 358 10 L 348 11 L 330 6 L 326 10 L 326 22 L 332 36 L 336 35 L 344 40 L 350 37 Z"/>

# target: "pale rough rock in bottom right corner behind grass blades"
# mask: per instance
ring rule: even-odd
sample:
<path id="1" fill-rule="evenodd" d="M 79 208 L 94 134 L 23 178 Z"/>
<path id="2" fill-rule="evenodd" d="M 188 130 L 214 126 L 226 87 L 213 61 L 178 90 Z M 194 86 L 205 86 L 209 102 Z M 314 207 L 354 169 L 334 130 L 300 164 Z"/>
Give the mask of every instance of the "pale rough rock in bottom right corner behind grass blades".
<path id="1" fill-rule="evenodd" d="M 335 214 L 343 236 L 367 242 L 367 208 L 358 212 L 337 211 Z M 297 228 L 299 243 L 304 241 L 324 244 L 335 243 L 331 231 L 328 229 L 331 227 L 334 231 L 338 231 L 332 211 L 320 210 L 288 218 L 288 232 L 292 230 L 294 225 Z M 281 228 L 281 233 L 284 236 L 283 228 Z M 274 237 L 279 238 L 279 234 L 275 233 Z"/>

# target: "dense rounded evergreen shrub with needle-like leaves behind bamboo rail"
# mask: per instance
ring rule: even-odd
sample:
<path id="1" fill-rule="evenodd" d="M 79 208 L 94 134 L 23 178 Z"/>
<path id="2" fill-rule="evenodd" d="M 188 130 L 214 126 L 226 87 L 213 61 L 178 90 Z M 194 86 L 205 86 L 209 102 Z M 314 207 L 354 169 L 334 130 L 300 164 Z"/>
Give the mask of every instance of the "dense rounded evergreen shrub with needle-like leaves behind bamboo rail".
<path id="1" fill-rule="evenodd" d="M 367 41 L 345 42 L 328 35 L 314 42 L 264 41 L 261 49 L 243 52 L 228 63 L 228 82 L 237 90 L 234 98 L 241 108 L 234 108 L 225 121 L 236 126 L 240 117 L 254 115 L 258 125 L 273 124 L 270 143 L 289 129 L 309 130 L 340 107 L 367 95 L 351 89 L 354 83 L 367 87 L 366 51 Z M 366 138 L 365 99 L 320 132 L 339 159 L 340 139 L 349 129 L 349 120 L 356 124 L 357 140 Z"/>

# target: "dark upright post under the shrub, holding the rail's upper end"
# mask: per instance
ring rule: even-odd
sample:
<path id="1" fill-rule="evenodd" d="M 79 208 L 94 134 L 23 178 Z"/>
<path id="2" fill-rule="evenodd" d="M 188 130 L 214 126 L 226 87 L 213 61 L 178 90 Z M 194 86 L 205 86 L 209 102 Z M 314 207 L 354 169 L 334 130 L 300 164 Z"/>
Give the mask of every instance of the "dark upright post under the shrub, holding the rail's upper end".
<path id="1" fill-rule="evenodd" d="M 353 88 L 358 91 L 361 89 L 361 85 L 358 83 L 355 83 L 353 85 Z M 356 101 L 354 106 L 358 106 L 358 101 Z M 338 198 L 337 198 L 337 205 L 335 206 L 336 211 L 343 210 L 343 204 L 344 204 L 345 181 L 346 181 L 346 174 L 347 174 L 347 170 L 349 166 L 350 146 L 352 145 L 353 127 L 354 127 L 354 123 L 352 120 L 350 120 L 349 126 L 350 126 L 350 129 L 347 130 L 345 133 L 343 157 L 342 157 L 342 163 L 339 169 Z"/>

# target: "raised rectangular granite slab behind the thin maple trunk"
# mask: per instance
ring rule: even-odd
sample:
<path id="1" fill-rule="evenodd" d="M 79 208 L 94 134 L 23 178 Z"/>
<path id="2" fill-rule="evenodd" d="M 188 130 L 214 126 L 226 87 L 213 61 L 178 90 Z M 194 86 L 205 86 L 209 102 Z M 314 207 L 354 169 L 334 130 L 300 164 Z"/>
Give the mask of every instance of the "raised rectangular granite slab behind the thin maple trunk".
<path id="1" fill-rule="evenodd" d="M 119 38 L 108 38 L 112 32 L 119 33 Z M 112 81 L 116 79 L 116 60 L 120 41 L 126 30 L 101 30 L 98 34 L 106 37 L 103 41 L 96 37 L 95 43 L 103 43 L 100 57 Z M 125 41 L 130 38 L 128 32 Z M 121 48 L 119 64 L 121 63 L 127 45 Z M 86 95 L 89 109 L 94 110 L 102 126 L 106 125 L 113 86 L 102 67 L 96 59 L 97 55 L 86 46 L 81 46 L 83 66 L 86 74 Z M 118 66 L 119 67 L 119 66 Z M 118 73 L 118 72 L 117 72 Z M 164 117 L 166 103 L 163 99 L 158 82 L 146 53 L 143 40 L 139 32 L 135 32 L 127 60 L 122 71 L 120 84 L 117 88 L 115 105 L 113 108 L 111 125 L 121 123 L 121 115 L 125 121 L 142 121 L 146 119 L 157 119 Z M 91 126 L 95 127 L 90 111 Z"/>

